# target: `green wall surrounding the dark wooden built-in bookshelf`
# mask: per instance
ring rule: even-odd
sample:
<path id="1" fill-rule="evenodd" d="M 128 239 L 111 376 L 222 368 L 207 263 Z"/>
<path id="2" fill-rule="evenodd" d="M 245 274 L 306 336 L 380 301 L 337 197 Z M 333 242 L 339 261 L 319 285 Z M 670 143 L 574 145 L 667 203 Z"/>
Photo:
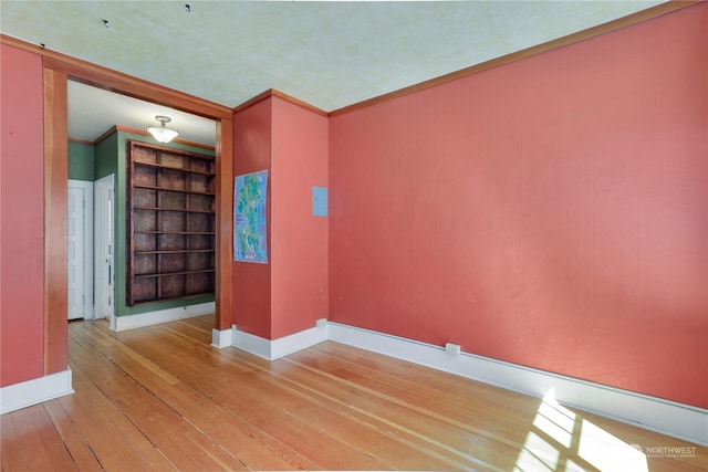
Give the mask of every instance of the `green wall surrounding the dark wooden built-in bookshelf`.
<path id="1" fill-rule="evenodd" d="M 127 141 L 128 139 L 155 144 L 155 140 L 142 135 L 115 132 L 95 147 L 95 178 L 100 179 L 115 174 L 115 298 L 116 316 L 129 316 L 158 310 L 177 308 L 214 302 L 214 295 L 194 298 L 174 300 L 168 302 L 142 303 L 135 306 L 126 304 L 126 273 L 127 273 Z M 198 147 L 170 144 L 169 147 L 192 153 L 214 156 L 214 151 Z"/>

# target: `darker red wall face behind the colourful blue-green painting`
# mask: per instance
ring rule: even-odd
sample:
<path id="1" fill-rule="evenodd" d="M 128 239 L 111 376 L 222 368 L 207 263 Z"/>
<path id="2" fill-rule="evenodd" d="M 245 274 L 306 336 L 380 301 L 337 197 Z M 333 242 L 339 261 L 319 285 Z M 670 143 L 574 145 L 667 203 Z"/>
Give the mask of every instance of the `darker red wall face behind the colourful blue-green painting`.
<path id="1" fill-rule="evenodd" d="M 233 116 L 233 175 L 269 171 L 271 179 L 272 98 Z M 271 182 L 268 182 L 268 223 L 271 220 Z M 271 239 L 268 264 L 233 262 L 233 323 L 239 331 L 271 338 Z"/>

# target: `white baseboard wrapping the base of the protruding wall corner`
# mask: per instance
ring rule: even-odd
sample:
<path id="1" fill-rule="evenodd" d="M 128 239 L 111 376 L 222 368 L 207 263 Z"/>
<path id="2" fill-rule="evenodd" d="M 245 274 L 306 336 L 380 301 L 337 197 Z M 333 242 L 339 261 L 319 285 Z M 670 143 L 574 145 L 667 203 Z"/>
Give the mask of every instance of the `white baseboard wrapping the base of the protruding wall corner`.
<path id="1" fill-rule="evenodd" d="M 231 345 L 233 347 L 238 347 L 239 349 L 268 360 L 279 359 L 289 354 L 314 346 L 323 340 L 327 340 L 327 338 L 329 327 L 326 323 L 273 340 L 238 331 L 236 326 L 231 328 Z M 212 346 L 221 347 L 216 343 L 214 343 Z"/>

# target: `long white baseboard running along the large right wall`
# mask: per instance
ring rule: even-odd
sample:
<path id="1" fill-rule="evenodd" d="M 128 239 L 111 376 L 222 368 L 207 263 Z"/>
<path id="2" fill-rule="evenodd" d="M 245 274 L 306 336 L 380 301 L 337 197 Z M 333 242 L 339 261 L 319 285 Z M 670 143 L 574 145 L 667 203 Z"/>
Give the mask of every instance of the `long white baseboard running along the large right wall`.
<path id="1" fill-rule="evenodd" d="M 542 398 L 551 389 L 565 406 L 594 412 L 681 440 L 708 445 L 708 410 L 558 374 L 329 323 L 329 338 L 386 356 Z"/>

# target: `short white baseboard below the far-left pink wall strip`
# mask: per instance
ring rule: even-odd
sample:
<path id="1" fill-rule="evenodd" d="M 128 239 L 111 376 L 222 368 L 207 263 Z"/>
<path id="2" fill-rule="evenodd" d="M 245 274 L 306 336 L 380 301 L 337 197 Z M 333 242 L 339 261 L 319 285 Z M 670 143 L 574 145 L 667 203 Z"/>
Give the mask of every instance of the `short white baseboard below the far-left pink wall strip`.
<path id="1" fill-rule="evenodd" d="M 71 369 L 0 388 L 0 415 L 74 392 Z"/>

